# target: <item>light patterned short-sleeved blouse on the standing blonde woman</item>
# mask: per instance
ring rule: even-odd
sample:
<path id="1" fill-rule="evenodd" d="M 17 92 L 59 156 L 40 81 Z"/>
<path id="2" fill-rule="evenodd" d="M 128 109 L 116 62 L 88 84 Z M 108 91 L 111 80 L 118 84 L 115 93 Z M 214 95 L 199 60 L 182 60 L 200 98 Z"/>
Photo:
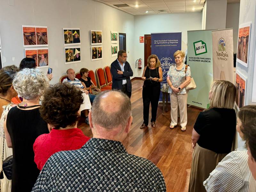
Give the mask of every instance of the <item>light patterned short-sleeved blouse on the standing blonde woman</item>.
<path id="1" fill-rule="evenodd" d="M 176 88 L 180 87 L 180 85 L 183 84 L 184 81 L 186 81 L 187 76 L 191 76 L 190 67 L 188 66 L 186 74 L 185 74 L 185 67 L 186 65 L 183 64 L 182 69 L 177 70 L 176 64 L 175 64 L 175 65 L 171 65 L 171 67 L 169 68 L 167 77 L 170 78 L 172 85 Z M 171 87 L 169 87 L 168 93 L 172 93 Z M 186 87 L 184 87 L 183 89 L 180 90 L 180 92 L 176 94 L 186 94 L 186 93 L 187 93 L 187 90 L 186 90 Z"/>

